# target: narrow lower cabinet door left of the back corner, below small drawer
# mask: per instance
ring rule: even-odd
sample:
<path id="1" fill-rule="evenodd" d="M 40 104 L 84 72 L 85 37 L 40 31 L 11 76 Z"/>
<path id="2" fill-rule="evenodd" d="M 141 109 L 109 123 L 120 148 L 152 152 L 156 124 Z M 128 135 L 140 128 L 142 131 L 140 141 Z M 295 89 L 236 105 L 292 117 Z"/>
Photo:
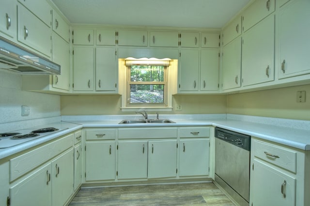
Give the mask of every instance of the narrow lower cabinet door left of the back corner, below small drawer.
<path id="1" fill-rule="evenodd" d="M 82 145 L 74 147 L 74 191 L 82 184 Z"/>

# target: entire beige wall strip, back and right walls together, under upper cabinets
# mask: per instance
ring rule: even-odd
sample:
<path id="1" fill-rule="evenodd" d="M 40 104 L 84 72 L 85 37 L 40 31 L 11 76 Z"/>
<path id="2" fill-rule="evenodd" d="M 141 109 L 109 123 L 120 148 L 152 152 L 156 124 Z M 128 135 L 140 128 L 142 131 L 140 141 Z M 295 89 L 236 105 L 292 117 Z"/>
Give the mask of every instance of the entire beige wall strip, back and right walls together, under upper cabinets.
<path id="1" fill-rule="evenodd" d="M 306 103 L 296 102 L 296 92 L 306 91 Z M 174 95 L 172 104 L 182 111 L 161 114 L 240 114 L 310 120 L 310 85 L 230 95 Z M 119 95 L 61 96 L 61 115 L 127 115 Z M 150 112 L 152 114 L 152 112 Z"/>

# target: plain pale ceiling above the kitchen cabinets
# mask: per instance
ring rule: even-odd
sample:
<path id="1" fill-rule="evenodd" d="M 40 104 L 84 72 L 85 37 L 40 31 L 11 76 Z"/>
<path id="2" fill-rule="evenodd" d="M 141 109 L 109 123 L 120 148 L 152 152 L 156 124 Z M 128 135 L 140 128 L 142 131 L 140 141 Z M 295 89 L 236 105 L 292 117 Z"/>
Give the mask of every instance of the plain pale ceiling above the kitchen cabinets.
<path id="1" fill-rule="evenodd" d="M 250 0 L 52 0 L 74 24 L 222 28 Z"/>

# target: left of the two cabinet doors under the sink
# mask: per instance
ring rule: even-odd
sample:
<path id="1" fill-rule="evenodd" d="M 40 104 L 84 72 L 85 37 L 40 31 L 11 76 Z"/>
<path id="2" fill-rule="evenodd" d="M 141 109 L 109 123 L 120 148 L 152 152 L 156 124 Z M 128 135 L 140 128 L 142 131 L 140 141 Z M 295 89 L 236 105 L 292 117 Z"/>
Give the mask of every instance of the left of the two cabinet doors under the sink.
<path id="1" fill-rule="evenodd" d="M 147 141 L 118 143 L 118 178 L 147 178 Z"/>

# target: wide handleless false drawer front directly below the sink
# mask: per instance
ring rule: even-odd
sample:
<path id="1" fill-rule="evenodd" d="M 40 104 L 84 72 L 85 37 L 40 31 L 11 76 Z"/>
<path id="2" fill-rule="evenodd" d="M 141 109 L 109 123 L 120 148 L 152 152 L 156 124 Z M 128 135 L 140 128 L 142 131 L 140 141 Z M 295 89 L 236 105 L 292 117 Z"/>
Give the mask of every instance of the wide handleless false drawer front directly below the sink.
<path id="1" fill-rule="evenodd" d="M 119 139 L 176 138 L 177 128 L 120 128 Z"/>

